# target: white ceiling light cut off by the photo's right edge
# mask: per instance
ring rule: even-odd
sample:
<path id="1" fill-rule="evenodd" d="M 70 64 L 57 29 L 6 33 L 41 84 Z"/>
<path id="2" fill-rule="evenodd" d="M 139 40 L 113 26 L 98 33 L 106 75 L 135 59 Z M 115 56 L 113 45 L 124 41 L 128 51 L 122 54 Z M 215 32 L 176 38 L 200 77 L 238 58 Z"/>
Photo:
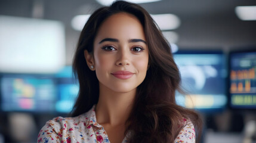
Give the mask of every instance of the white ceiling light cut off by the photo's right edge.
<path id="1" fill-rule="evenodd" d="M 256 20 L 256 6 L 238 6 L 235 13 L 240 20 Z"/>

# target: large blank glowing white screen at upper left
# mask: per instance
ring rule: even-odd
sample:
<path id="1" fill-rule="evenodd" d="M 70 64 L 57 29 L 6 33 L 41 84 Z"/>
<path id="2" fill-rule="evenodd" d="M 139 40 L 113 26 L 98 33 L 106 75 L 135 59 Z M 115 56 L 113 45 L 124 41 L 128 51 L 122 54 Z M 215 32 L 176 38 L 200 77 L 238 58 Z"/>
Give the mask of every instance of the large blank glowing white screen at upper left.
<path id="1" fill-rule="evenodd" d="M 63 23 L 7 15 L 0 21 L 2 73 L 54 74 L 65 65 Z"/>

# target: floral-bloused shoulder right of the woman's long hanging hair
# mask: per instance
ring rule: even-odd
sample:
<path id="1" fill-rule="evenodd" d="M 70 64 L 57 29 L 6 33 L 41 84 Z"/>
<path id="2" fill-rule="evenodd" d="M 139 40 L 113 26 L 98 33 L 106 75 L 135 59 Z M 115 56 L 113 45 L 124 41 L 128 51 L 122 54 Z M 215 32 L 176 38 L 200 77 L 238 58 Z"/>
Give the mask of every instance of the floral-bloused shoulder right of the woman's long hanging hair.
<path id="1" fill-rule="evenodd" d="M 194 143 L 196 142 L 195 128 L 191 120 L 183 119 L 182 121 L 183 129 L 178 133 L 177 138 L 175 138 L 175 143 Z"/>

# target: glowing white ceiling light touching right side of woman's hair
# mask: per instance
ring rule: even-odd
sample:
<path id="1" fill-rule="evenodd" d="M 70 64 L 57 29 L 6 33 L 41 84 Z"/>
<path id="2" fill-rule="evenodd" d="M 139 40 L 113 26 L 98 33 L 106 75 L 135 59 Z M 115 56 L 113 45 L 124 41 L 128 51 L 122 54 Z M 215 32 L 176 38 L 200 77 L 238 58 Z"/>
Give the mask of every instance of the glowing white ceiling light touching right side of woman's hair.
<path id="1" fill-rule="evenodd" d="M 151 14 L 161 30 L 177 29 L 180 26 L 180 18 L 174 14 Z"/>

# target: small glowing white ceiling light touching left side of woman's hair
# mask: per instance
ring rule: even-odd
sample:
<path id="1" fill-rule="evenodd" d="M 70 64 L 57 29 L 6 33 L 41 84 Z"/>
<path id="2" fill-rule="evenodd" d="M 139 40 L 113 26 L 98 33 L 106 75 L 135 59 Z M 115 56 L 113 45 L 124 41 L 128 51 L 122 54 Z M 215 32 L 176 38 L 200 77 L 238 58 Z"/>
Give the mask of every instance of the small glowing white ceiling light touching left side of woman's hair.
<path id="1" fill-rule="evenodd" d="M 71 20 L 71 26 L 73 29 L 81 31 L 84 26 L 85 23 L 87 23 L 87 20 L 89 19 L 91 15 L 87 14 L 87 15 L 76 15 L 72 20 Z"/>

